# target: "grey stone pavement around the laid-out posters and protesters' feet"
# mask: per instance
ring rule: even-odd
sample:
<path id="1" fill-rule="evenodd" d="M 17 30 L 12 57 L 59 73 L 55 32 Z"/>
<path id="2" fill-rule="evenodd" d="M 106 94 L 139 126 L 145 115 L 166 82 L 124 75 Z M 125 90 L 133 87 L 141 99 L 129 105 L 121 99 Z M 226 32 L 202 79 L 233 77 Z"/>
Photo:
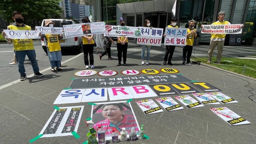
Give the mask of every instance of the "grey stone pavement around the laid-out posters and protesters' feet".
<path id="1" fill-rule="evenodd" d="M 119 72 L 117 76 L 125 69 L 161 69 L 173 68 L 180 70 L 180 73 L 187 78 L 196 81 L 207 82 L 223 90 L 231 98 L 239 101 L 235 104 L 205 105 L 201 108 L 177 110 L 172 112 L 161 112 L 152 115 L 145 115 L 136 104 L 136 100 L 131 101 L 131 106 L 137 117 L 138 123 L 145 124 L 145 134 L 149 139 L 139 139 L 137 141 L 125 141 L 120 143 L 134 144 L 254 144 L 256 141 L 256 103 L 251 101 L 248 96 L 251 95 L 247 84 L 253 87 L 252 91 L 256 99 L 256 80 L 242 75 L 222 71 L 207 65 L 182 65 L 181 55 L 182 47 L 177 46 L 172 60 L 174 66 L 164 66 L 163 56 L 165 48 L 152 47 L 150 65 L 141 65 L 140 46 L 134 43 L 128 44 L 128 66 L 116 66 L 118 61 L 116 57 L 116 45 L 112 46 L 112 57 L 115 60 L 107 60 L 107 55 L 99 60 L 98 54 L 94 54 L 94 65 L 97 72 L 101 70 L 115 70 Z M 230 56 L 256 55 L 255 46 L 225 46 L 224 54 Z M 208 46 L 195 46 L 196 56 L 206 56 Z M 41 49 L 36 49 L 41 51 Z M 103 51 L 101 49 L 101 51 Z M 96 52 L 96 51 L 95 51 Z M 194 54 L 194 51 L 193 51 Z M 65 56 L 64 56 L 65 57 Z M 14 74 L 7 83 L 1 83 L 0 89 L 0 144 L 28 144 L 29 140 L 39 135 L 46 124 L 50 115 L 54 111 L 53 102 L 62 89 L 70 86 L 70 78 L 80 78 L 74 75 L 75 72 L 84 69 L 83 55 L 67 56 L 62 60 L 62 69 L 60 72 L 51 72 L 49 61 L 39 56 L 42 78 L 32 77 L 32 72 L 27 70 L 28 79 L 25 81 L 16 81 L 19 78 L 17 68 L 12 67 Z M 72 60 L 69 60 L 72 59 Z M 31 67 L 25 65 L 26 69 Z M 0 67 L 1 75 L 8 75 L 4 69 L 10 69 L 8 64 Z M 162 75 L 161 73 L 160 75 Z M 142 74 L 141 74 L 142 75 Z M 100 77 L 98 75 L 90 76 Z M 2 78 L 3 79 L 3 78 Z M 0 79 L 1 80 L 1 79 Z M 12 82 L 15 81 L 15 82 Z M 12 82 L 10 84 L 10 82 Z M 7 85 L 6 85 L 7 84 Z M 8 85 L 9 84 L 9 85 Z M 174 96 L 171 96 L 172 98 Z M 153 98 L 152 98 L 153 99 Z M 79 139 L 73 136 L 39 138 L 33 142 L 35 144 L 82 144 L 86 141 L 88 127 L 84 124 L 87 117 L 90 116 L 91 106 L 87 103 L 76 104 L 57 104 L 58 107 L 80 106 L 84 105 L 81 122 L 77 133 L 81 136 Z M 249 125 L 230 126 L 213 112 L 210 107 L 228 107 L 246 120 Z"/>

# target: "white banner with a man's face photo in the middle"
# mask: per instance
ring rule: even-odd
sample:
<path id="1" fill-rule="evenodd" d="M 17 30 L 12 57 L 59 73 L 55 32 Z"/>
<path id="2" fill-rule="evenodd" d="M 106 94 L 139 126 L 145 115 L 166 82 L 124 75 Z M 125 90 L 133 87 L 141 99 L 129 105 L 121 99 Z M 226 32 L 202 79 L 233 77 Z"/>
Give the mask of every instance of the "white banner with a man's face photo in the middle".
<path id="1" fill-rule="evenodd" d="M 63 28 L 66 37 L 79 37 L 83 35 L 96 35 L 106 33 L 104 22 L 64 25 Z"/>

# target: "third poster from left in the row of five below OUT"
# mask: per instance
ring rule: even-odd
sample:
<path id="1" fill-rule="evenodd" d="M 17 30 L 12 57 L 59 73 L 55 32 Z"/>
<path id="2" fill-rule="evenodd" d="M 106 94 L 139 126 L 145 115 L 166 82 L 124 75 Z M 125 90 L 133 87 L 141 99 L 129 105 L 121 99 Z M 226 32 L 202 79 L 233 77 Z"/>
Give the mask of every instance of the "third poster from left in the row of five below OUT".
<path id="1" fill-rule="evenodd" d="M 189 95 L 175 96 L 175 98 L 188 108 L 204 107 L 203 104 L 199 103 Z"/>

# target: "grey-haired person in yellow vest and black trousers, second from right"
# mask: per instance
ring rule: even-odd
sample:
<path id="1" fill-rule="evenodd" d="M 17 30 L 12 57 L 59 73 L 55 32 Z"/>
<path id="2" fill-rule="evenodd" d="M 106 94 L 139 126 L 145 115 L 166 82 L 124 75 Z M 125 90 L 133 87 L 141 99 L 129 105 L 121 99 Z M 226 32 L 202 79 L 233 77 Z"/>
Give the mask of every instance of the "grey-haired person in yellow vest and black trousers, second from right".
<path id="1" fill-rule="evenodd" d="M 192 64 L 190 62 L 190 57 L 192 55 L 194 37 L 197 37 L 196 29 L 194 26 L 195 26 L 195 20 L 190 20 L 188 32 L 186 35 L 186 37 L 187 37 L 186 38 L 186 46 L 183 46 L 183 55 L 182 55 L 183 62 L 182 62 L 182 64 L 185 64 L 185 63 Z"/>

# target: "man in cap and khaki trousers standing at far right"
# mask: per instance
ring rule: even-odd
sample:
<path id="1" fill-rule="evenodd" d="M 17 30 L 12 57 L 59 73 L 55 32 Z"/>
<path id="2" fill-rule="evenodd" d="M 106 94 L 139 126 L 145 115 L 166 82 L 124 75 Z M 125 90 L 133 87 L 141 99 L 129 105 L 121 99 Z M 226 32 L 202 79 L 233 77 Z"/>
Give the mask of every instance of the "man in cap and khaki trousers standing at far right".
<path id="1" fill-rule="evenodd" d="M 230 24 L 230 22 L 225 21 L 225 14 L 226 12 L 219 12 L 218 13 L 218 21 L 212 23 L 212 25 L 227 25 Z M 208 51 L 208 61 L 207 63 L 211 63 L 212 61 L 212 52 L 215 49 L 216 45 L 218 48 L 218 54 L 217 54 L 217 61 L 216 63 L 221 64 L 221 58 L 222 58 L 222 52 L 223 52 L 223 46 L 224 46 L 224 41 L 225 41 L 225 36 L 226 34 L 212 34 L 211 37 L 211 42 L 209 46 L 209 51 Z"/>

